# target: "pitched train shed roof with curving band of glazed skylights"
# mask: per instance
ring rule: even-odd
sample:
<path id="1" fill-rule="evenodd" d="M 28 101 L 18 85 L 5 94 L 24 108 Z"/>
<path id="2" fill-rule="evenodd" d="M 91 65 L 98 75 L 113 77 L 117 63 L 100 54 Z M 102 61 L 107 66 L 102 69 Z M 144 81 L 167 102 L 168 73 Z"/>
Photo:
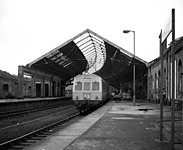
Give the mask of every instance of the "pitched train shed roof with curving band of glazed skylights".
<path id="1" fill-rule="evenodd" d="M 27 67 L 58 75 L 65 81 L 88 71 L 119 87 L 120 83 L 132 81 L 134 62 L 136 74 L 144 75 L 147 72 L 144 60 L 87 29 Z"/>

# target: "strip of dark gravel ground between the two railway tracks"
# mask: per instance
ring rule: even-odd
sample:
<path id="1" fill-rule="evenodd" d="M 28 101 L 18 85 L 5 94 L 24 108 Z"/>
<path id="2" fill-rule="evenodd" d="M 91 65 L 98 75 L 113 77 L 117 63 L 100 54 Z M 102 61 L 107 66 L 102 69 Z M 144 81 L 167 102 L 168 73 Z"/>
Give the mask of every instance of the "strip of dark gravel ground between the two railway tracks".
<path id="1" fill-rule="evenodd" d="M 77 112 L 78 111 L 73 106 L 61 106 L 54 109 L 30 113 L 22 117 L 2 120 L 0 122 L 0 143 L 62 120 Z"/>

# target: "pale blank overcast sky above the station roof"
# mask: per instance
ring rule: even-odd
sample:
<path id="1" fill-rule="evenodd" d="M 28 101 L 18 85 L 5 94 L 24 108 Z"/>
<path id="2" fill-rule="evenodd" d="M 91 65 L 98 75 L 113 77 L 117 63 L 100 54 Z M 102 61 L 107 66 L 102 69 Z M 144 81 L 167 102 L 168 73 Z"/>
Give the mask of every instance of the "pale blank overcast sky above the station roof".
<path id="1" fill-rule="evenodd" d="M 183 36 L 183 0 L 0 0 L 0 70 L 18 73 L 55 47 L 90 29 L 149 62 L 175 8 L 175 37 Z"/>

